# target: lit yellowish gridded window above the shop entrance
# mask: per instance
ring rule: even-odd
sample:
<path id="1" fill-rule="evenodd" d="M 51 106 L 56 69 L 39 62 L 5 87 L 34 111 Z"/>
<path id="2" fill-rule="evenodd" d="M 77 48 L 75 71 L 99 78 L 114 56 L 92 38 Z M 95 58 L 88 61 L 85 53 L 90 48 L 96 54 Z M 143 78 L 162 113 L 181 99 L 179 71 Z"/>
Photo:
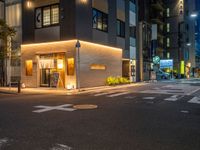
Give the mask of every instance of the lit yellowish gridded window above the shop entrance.
<path id="1" fill-rule="evenodd" d="M 59 5 L 54 4 L 36 8 L 35 10 L 35 27 L 42 28 L 59 24 Z"/>

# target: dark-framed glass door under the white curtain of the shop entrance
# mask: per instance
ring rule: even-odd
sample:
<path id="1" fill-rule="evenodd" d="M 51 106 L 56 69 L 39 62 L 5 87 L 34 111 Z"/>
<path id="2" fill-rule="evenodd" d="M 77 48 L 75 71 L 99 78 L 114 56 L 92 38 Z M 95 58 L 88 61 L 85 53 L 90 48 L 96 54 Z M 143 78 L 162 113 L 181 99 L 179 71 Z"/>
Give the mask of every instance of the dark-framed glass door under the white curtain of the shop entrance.
<path id="1" fill-rule="evenodd" d="M 41 87 L 50 87 L 50 69 L 41 69 L 40 83 Z"/>

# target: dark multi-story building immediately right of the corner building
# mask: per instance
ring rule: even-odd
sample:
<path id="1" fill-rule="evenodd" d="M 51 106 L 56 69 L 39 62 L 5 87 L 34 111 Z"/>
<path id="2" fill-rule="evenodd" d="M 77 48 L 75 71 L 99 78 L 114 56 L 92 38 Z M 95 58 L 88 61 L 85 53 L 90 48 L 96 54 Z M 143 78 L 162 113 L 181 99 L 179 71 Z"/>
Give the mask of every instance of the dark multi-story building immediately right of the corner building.
<path id="1" fill-rule="evenodd" d="M 164 57 L 164 11 L 162 0 L 140 0 L 139 51 L 141 80 L 151 79 L 153 57 Z"/>

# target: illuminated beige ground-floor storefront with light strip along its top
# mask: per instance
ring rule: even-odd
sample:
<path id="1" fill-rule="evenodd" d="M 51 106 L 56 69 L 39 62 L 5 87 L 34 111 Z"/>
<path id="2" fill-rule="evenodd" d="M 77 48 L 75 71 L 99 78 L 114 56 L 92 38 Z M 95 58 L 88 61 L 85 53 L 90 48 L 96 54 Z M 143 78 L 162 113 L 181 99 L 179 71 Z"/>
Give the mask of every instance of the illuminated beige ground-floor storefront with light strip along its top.
<path id="1" fill-rule="evenodd" d="M 109 76 L 122 76 L 122 49 L 80 41 L 78 57 L 76 42 L 22 45 L 22 83 L 26 87 L 75 89 L 78 83 L 81 88 L 101 86 Z"/>

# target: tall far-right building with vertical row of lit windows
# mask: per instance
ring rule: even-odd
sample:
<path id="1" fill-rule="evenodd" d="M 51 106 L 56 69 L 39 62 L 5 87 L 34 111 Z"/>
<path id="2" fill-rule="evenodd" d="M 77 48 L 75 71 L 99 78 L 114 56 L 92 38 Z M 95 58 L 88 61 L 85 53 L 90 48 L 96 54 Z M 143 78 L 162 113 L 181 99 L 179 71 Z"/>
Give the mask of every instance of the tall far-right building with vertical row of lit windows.
<path id="1" fill-rule="evenodd" d="M 190 13 L 194 10 L 193 0 L 166 0 L 165 48 L 166 58 L 173 59 L 174 70 L 182 77 L 195 67 L 195 28 Z"/>

